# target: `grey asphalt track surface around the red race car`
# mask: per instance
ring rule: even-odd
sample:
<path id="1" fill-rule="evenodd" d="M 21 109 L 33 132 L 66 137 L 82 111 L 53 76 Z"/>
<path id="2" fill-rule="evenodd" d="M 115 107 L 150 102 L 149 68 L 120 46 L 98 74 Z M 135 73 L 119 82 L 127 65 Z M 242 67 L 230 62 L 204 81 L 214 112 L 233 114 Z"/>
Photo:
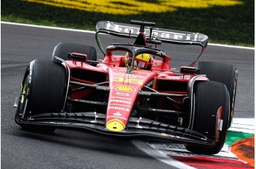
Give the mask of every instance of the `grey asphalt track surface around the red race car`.
<path id="1" fill-rule="evenodd" d="M 98 58 L 103 58 L 93 33 L 1 23 L 1 168 L 175 168 L 140 151 L 132 141 L 82 131 L 42 134 L 20 129 L 14 121 L 13 105 L 26 66 L 36 58 L 50 60 L 59 42 L 92 45 Z M 186 60 L 191 61 L 191 47 L 163 48 L 177 69 Z M 251 49 L 208 45 L 201 57 L 203 61 L 229 62 L 238 68 L 237 118 L 254 118 L 254 56 L 255 50 Z"/>

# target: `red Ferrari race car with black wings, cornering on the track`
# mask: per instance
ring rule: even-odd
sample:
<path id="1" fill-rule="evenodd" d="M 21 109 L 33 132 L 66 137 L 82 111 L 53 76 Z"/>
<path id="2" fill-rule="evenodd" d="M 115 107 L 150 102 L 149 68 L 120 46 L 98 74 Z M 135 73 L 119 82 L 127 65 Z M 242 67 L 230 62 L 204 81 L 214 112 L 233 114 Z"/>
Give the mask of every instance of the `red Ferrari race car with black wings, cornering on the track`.
<path id="1" fill-rule="evenodd" d="M 201 33 L 154 28 L 155 23 L 99 21 L 95 48 L 58 43 L 52 60 L 33 60 L 17 97 L 22 129 L 86 129 L 107 136 L 183 143 L 193 153 L 220 152 L 233 119 L 238 70 L 198 62 L 208 43 Z M 99 35 L 134 39 L 103 48 Z M 161 43 L 198 45 L 200 55 L 178 70 Z"/>

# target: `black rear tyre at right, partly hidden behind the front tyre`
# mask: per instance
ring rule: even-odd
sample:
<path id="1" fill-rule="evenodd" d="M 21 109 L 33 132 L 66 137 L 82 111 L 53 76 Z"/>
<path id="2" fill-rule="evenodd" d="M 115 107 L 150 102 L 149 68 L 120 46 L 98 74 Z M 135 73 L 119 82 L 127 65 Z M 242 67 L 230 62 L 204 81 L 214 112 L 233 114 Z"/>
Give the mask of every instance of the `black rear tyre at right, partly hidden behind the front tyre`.
<path id="1" fill-rule="evenodd" d="M 221 82 L 228 88 L 230 94 L 230 120 L 228 128 L 233 121 L 235 108 L 235 93 L 238 82 L 238 70 L 234 65 L 223 62 L 199 62 L 201 75 L 206 75 L 210 81 Z"/>

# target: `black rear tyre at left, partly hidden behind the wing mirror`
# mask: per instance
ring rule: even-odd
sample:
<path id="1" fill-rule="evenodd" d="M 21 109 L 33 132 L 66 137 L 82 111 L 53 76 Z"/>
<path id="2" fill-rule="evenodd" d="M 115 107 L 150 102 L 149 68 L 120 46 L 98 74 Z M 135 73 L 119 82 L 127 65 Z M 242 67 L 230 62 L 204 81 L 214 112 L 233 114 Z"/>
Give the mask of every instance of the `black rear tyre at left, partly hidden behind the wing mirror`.
<path id="1" fill-rule="evenodd" d="M 94 47 L 78 43 L 58 43 L 53 50 L 52 60 L 54 62 L 60 62 L 55 59 L 55 56 L 63 60 L 71 60 L 68 58 L 68 53 L 82 53 L 87 55 L 87 60 L 97 60 L 97 53 Z M 95 62 L 88 62 L 88 64 L 95 65 Z"/>

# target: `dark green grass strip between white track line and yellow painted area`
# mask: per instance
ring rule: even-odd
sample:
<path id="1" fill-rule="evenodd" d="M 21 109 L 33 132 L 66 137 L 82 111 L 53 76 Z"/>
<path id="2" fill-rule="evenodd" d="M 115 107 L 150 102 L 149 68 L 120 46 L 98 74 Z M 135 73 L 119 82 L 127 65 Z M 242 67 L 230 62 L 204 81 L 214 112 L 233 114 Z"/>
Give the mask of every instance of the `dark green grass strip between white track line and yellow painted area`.
<path id="1" fill-rule="evenodd" d="M 149 1 L 149 3 L 159 3 L 159 1 Z M 149 10 L 124 16 L 123 14 L 68 9 L 21 0 L 2 0 L 1 21 L 95 30 L 97 21 L 129 23 L 132 19 L 144 20 L 155 22 L 156 27 L 159 28 L 204 33 L 209 37 L 210 43 L 254 47 L 254 3 L 253 0 L 243 0 L 235 6 L 211 5 L 207 8 L 176 6 L 175 11 L 153 13 Z M 119 5 L 125 5 L 125 3 L 119 2 Z"/>

